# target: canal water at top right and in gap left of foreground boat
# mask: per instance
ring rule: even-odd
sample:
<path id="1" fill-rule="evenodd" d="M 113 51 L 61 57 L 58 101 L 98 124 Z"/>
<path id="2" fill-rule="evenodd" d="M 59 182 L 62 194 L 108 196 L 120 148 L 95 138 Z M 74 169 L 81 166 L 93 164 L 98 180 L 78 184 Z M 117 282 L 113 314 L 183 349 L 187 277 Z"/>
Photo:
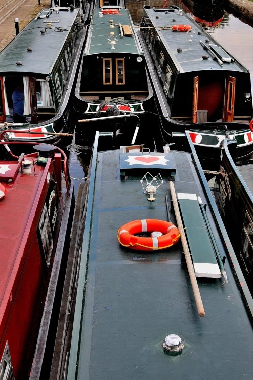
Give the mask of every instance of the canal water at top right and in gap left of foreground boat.
<path id="1" fill-rule="evenodd" d="M 205 27 L 218 43 L 235 55 L 235 57 L 249 69 L 253 88 L 253 24 L 250 25 L 246 19 L 241 16 L 233 15 L 226 9 L 218 9 L 217 18 L 215 14 L 212 15 L 211 25 L 205 12 L 202 12 L 202 14 L 201 12 L 199 13 L 199 11 L 195 12 L 195 14 L 193 13 L 194 9 L 190 8 L 189 4 L 191 2 L 188 0 L 185 0 L 185 2 L 179 0 L 126 0 L 126 6 L 129 8 L 136 26 L 140 24 L 144 5 L 150 4 L 152 7 L 157 6 L 162 8 L 165 3 L 167 5 L 175 4 L 183 8 L 198 22 L 202 20 L 202 27 Z M 211 17 L 209 18 L 211 19 Z M 91 146 L 83 146 L 82 144 L 78 145 L 75 137 L 75 132 L 73 131 L 73 140 L 65 144 L 64 150 L 68 152 L 70 175 L 74 184 L 75 194 L 77 194 L 79 184 L 84 180 L 88 172 L 92 148 Z"/>

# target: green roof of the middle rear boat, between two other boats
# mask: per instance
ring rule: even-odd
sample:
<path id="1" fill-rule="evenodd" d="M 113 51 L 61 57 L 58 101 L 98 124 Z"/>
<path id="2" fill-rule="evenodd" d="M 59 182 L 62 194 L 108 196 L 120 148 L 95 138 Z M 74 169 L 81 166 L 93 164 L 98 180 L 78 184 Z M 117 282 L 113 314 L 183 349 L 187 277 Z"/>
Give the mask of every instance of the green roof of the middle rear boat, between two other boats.
<path id="1" fill-rule="evenodd" d="M 107 14 L 106 10 L 114 10 L 118 13 Z M 101 17 L 101 12 L 103 17 Z M 103 13 L 104 12 L 104 13 Z M 110 22 L 110 20 L 113 20 Z M 114 27 L 110 27 L 113 25 Z M 120 30 L 121 29 L 121 30 Z M 108 42 L 110 33 L 114 33 L 116 43 L 115 50 Z M 87 37 L 87 45 L 84 55 L 100 53 L 125 53 L 125 54 L 142 54 L 139 41 L 133 28 L 133 21 L 129 11 L 120 7 L 102 7 L 95 9 Z"/>

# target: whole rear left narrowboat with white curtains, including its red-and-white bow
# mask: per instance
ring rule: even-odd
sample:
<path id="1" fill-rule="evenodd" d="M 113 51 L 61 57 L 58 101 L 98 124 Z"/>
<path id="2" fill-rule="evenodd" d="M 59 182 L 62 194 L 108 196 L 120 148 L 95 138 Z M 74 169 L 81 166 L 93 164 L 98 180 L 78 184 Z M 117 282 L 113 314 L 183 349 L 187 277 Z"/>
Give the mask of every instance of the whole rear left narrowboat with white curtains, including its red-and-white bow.
<path id="1" fill-rule="evenodd" d="M 58 135 L 43 132 L 69 131 L 87 30 L 80 4 L 41 10 L 0 52 L 0 125 L 12 130 L 9 141 L 56 144 Z"/>

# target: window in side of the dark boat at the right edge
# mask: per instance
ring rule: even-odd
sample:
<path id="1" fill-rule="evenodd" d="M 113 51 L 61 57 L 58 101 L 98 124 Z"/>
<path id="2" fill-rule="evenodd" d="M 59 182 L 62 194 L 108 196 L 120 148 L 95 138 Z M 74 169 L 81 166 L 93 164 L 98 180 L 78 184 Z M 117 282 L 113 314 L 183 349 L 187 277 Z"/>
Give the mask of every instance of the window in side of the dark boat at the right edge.
<path id="1" fill-rule="evenodd" d="M 253 222 L 247 211 L 243 223 L 241 245 L 241 255 L 246 270 L 250 273 L 253 268 Z"/>

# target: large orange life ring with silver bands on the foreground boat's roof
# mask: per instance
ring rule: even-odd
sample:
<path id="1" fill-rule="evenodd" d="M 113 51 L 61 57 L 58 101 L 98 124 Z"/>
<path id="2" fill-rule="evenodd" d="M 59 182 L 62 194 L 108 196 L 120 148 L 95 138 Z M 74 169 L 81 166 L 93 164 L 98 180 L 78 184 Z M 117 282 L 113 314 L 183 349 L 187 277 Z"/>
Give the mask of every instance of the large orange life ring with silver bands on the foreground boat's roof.
<path id="1" fill-rule="evenodd" d="M 157 235 L 161 236 L 134 235 L 142 232 L 153 232 L 154 235 L 158 232 Z M 122 225 L 118 230 L 119 243 L 138 251 L 155 251 L 171 247 L 178 242 L 179 237 L 179 230 L 173 223 L 158 219 L 133 220 Z"/>

